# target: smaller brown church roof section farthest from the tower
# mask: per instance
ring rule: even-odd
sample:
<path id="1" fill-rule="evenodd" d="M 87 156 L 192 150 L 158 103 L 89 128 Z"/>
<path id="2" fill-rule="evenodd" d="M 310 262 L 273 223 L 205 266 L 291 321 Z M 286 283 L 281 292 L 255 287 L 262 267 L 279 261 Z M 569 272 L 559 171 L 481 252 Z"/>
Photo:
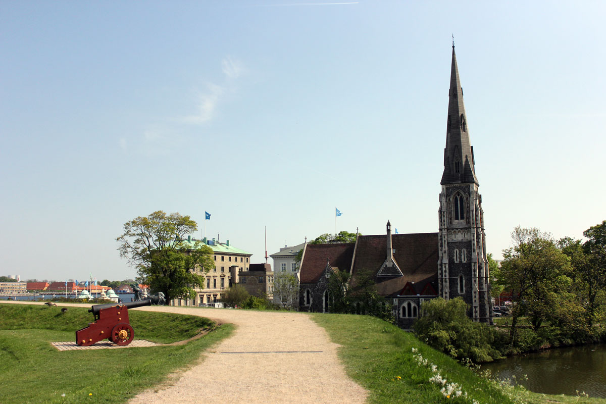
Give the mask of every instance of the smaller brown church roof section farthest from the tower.
<path id="1" fill-rule="evenodd" d="M 318 282 L 327 260 L 331 267 L 349 272 L 354 247 L 355 243 L 308 244 L 299 270 L 301 283 Z"/>

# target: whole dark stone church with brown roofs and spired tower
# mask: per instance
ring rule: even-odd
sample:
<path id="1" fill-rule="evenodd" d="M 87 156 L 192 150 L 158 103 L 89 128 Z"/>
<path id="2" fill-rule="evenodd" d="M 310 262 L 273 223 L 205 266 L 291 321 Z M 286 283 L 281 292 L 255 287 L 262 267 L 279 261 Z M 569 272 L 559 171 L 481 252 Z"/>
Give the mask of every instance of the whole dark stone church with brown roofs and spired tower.
<path id="1" fill-rule="evenodd" d="M 425 300 L 462 297 L 468 316 L 492 322 L 482 196 L 479 194 L 463 90 L 452 53 L 444 173 L 438 232 L 358 236 L 355 243 L 307 244 L 299 269 L 299 310 L 330 313 L 328 280 L 347 271 L 355 284 L 370 273 L 392 306 L 398 326 L 410 329 Z"/>

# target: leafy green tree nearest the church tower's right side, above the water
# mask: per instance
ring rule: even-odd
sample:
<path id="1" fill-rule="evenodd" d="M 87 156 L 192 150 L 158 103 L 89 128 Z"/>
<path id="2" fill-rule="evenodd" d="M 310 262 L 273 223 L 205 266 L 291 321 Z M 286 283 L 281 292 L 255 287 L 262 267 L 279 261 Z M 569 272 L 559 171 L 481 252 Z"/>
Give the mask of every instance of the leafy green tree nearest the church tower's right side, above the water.
<path id="1" fill-rule="evenodd" d="M 568 257 L 556 247 L 550 234 L 537 228 L 516 227 L 511 233 L 513 247 L 503 251 L 502 285 L 510 290 L 516 305 L 513 308 L 510 345 L 516 339 L 520 316 L 527 314 L 537 331 L 543 320 L 551 316 L 557 304 L 556 293 L 566 285 Z"/>

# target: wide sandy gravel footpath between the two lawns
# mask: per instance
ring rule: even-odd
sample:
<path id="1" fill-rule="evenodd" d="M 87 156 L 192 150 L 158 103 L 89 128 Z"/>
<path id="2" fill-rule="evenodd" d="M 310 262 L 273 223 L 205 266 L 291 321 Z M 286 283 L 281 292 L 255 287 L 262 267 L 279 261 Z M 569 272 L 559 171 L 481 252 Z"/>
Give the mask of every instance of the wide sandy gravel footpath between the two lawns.
<path id="1" fill-rule="evenodd" d="M 233 335 L 214 346 L 172 386 L 143 392 L 147 403 L 364 403 L 367 392 L 345 375 L 324 328 L 302 313 L 144 307 L 233 323 Z"/>

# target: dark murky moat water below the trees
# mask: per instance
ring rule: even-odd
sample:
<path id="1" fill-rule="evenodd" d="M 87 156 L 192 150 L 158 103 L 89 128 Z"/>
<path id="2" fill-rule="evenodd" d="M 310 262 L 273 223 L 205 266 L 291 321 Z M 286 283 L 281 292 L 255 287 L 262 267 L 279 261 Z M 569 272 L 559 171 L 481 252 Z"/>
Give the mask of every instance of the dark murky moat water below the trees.
<path id="1" fill-rule="evenodd" d="M 606 398 L 606 344 L 547 349 L 485 363 L 482 370 L 545 394 Z"/>

